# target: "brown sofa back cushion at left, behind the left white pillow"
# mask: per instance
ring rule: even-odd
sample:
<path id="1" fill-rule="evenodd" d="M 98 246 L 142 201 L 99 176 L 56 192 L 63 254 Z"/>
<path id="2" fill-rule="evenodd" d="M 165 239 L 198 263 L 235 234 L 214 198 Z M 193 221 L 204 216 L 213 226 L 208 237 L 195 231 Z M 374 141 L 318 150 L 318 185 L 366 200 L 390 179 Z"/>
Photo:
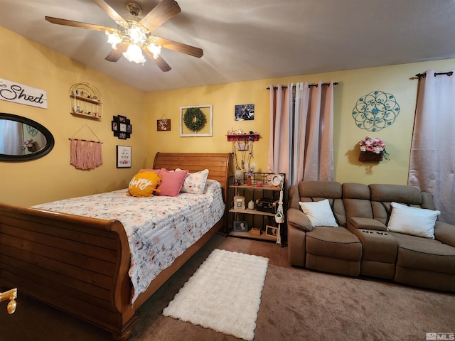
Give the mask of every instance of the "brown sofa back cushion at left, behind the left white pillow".
<path id="1" fill-rule="evenodd" d="M 336 181 L 302 181 L 298 185 L 301 202 L 320 201 L 328 199 L 336 222 L 346 227 L 346 212 L 344 210 L 341 183 Z"/>

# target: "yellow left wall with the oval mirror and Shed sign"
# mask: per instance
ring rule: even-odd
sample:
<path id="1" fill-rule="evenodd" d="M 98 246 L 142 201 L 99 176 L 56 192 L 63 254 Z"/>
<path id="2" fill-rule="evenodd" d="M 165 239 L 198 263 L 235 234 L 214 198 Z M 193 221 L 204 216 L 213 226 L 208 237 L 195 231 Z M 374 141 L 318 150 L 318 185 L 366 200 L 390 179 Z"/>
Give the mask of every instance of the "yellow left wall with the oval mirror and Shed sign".
<path id="1" fill-rule="evenodd" d="M 45 90 L 48 95 L 48 109 L 0 100 L 0 112 L 33 119 L 49 129 L 55 138 L 55 147 L 43 158 L 0 162 L 0 201 L 35 205 L 126 188 L 132 175 L 143 166 L 146 154 L 144 92 L 1 27 L 0 36 L 0 50 L 3 51 L 0 77 Z M 100 91 L 104 114 L 102 121 L 70 114 L 69 90 L 78 82 L 88 82 Z M 117 115 L 126 115 L 131 119 L 131 139 L 120 140 L 112 135 L 112 116 Z M 70 137 L 96 140 L 85 124 L 103 142 L 103 164 L 91 171 L 76 170 L 69 162 Z M 132 146 L 132 168 L 116 168 L 116 145 Z"/>

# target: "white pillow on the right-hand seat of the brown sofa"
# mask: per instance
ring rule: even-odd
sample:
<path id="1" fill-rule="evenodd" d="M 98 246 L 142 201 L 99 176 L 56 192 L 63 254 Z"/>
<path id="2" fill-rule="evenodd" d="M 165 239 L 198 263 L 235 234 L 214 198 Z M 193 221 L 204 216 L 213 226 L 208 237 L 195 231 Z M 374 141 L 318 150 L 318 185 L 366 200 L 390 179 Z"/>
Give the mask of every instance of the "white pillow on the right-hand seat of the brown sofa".
<path id="1" fill-rule="evenodd" d="M 410 207 L 392 202 L 387 231 L 434 239 L 434 224 L 440 211 Z"/>

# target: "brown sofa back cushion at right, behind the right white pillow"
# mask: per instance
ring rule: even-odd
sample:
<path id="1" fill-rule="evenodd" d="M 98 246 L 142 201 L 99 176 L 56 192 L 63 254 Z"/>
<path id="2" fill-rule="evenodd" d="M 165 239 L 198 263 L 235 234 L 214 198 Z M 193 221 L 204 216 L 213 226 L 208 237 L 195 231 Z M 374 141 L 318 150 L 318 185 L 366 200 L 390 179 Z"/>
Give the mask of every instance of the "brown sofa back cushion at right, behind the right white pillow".
<path id="1" fill-rule="evenodd" d="M 422 205 L 422 194 L 417 187 L 386 184 L 372 184 L 368 185 L 368 187 L 371 193 L 373 217 L 382 222 L 382 224 L 387 225 L 388 223 L 391 202 L 398 202 L 412 207 L 421 207 Z"/>

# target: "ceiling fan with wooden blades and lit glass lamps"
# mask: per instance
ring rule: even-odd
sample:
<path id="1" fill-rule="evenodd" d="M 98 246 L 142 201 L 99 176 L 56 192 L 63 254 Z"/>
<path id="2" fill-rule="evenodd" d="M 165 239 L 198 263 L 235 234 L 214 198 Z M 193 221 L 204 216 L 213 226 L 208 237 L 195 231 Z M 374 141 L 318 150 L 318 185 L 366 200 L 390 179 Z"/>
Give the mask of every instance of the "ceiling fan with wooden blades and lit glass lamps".
<path id="1" fill-rule="evenodd" d="M 166 21 L 181 12 L 180 6 L 178 6 L 177 2 L 174 0 L 161 1 L 142 19 L 138 18 L 142 13 L 142 9 L 134 2 L 127 3 L 127 9 L 129 13 L 131 13 L 131 16 L 122 17 L 104 0 L 92 1 L 100 6 L 100 8 L 117 23 L 117 28 L 53 18 L 51 16 L 45 16 L 45 20 L 58 25 L 105 31 L 108 36 L 107 43 L 112 45 L 112 51 L 105 58 L 109 62 L 117 62 L 123 55 L 124 58 L 127 58 L 130 62 L 142 63 L 142 65 L 144 65 L 146 61 L 144 55 L 142 55 L 142 51 L 144 51 L 162 71 L 166 72 L 171 70 L 171 67 L 161 57 L 161 48 L 186 53 L 187 55 L 193 55 L 197 58 L 200 58 L 203 55 L 203 50 L 200 48 L 160 38 L 151 34 L 151 31 L 155 28 L 166 23 Z"/>

